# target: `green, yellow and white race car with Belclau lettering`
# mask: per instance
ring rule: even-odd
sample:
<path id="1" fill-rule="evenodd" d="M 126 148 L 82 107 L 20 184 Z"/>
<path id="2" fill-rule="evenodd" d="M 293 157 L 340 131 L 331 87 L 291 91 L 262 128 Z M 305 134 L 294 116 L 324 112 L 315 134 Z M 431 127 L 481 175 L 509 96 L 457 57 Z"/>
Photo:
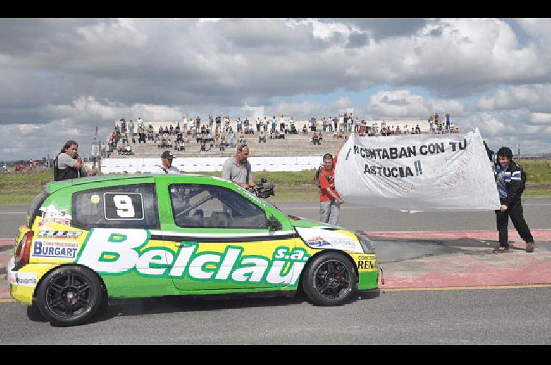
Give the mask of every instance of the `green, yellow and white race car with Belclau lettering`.
<path id="1" fill-rule="evenodd" d="M 86 322 L 116 298 L 304 293 L 333 306 L 378 288 L 363 233 L 286 216 L 210 176 L 49 183 L 15 241 L 12 298 L 58 326 Z"/>

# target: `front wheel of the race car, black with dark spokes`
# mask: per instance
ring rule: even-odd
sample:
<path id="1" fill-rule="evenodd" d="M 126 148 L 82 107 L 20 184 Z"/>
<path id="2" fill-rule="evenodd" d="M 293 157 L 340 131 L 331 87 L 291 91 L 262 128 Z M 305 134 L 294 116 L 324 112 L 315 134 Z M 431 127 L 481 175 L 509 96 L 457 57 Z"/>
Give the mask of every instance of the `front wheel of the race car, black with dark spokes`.
<path id="1" fill-rule="evenodd" d="M 355 266 L 342 253 L 322 253 L 306 266 L 302 275 L 302 289 L 313 304 L 346 304 L 357 294 Z"/>

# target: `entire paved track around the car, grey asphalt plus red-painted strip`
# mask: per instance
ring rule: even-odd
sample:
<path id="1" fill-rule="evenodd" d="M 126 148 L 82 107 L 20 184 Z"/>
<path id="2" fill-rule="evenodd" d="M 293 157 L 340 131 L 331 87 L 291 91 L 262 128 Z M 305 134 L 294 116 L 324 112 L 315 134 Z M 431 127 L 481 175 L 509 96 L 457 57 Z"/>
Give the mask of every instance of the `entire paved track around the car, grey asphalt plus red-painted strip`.
<path id="1" fill-rule="evenodd" d="M 318 218 L 317 202 L 276 205 Z M 295 298 L 136 300 L 76 328 L 28 318 L 1 280 L 26 209 L 0 206 L 0 344 L 551 344 L 551 198 L 524 200 L 536 253 L 523 251 L 512 231 L 513 249 L 491 253 L 492 212 L 343 205 L 340 225 L 371 236 L 385 278 L 380 295 L 346 306 Z"/>

